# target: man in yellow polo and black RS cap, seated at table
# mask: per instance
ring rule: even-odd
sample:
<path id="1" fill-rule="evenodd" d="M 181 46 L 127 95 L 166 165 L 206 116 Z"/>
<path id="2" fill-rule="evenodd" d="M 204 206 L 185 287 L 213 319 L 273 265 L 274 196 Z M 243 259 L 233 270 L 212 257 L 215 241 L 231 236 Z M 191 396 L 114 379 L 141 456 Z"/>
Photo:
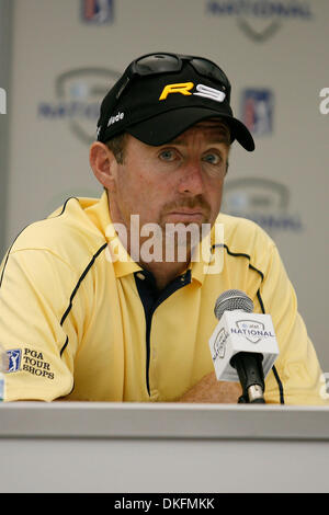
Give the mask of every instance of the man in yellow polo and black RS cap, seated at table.
<path id="1" fill-rule="evenodd" d="M 215 301 L 236 288 L 276 331 L 266 402 L 324 402 L 275 244 L 218 216 L 230 145 L 254 149 L 229 102 L 220 68 L 173 54 L 136 59 L 107 93 L 90 149 L 101 199 L 27 227 L 0 268 L 5 400 L 237 402 L 208 347 Z"/>

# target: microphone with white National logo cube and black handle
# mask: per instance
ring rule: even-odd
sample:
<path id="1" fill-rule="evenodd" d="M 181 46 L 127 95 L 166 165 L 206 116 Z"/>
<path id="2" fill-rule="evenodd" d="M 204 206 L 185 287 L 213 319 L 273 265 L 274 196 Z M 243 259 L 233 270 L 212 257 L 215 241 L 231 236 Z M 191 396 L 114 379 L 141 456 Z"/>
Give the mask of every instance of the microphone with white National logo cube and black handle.
<path id="1" fill-rule="evenodd" d="M 265 403 L 264 378 L 279 355 L 271 316 L 254 313 L 239 289 L 224 291 L 214 312 L 218 323 L 208 343 L 217 380 L 240 381 L 239 403 Z"/>

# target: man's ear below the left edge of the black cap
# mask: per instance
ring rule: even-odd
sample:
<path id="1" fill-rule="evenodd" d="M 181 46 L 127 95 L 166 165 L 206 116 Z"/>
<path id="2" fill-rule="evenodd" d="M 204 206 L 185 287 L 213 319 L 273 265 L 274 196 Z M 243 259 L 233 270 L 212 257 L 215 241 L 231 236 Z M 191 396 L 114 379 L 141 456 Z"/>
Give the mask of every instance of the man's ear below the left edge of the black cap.
<path id="1" fill-rule="evenodd" d="M 113 192 L 117 162 L 112 150 L 101 141 L 94 141 L 90 147 L 89 162 L 97 180 Z"/>

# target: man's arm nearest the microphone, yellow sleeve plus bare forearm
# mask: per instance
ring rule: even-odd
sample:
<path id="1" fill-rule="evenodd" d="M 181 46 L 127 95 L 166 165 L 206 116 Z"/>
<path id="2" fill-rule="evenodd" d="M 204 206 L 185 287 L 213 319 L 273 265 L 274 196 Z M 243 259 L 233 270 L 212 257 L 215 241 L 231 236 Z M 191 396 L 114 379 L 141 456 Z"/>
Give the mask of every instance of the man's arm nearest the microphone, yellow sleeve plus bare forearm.
<path id="1" fill-rule="evenodd" d="M 265 240 L 265 243 L 271 240 Z M 257 312 L 271 314 L 280 355 L 265 379 L 266 403 L 328 405 L 324 399 L 324 380 L 314 345 L 297 310 L 294 288 L 287 277 L 276 247 L 265 247 L 262 263 L 263 279 L 252 291 L 252 281 L 246 282 L 246 293 Z M 207 344 L 207 342 L 205 342 Z M 239 384 L 217 381 L 214 373 L 205 376 L 179 402 L 237 402 Z"/>

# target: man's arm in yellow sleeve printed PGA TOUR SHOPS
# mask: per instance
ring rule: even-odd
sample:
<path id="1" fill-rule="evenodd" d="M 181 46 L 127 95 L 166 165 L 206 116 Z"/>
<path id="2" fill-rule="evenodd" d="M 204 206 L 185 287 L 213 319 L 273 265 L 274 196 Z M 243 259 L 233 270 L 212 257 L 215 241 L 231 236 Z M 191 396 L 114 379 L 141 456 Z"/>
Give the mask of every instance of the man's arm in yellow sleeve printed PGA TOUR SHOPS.
<path id="1" fill-rule="evenodd" d="M 52 401 L 68 394 L 75 328 L 68 321 L 64 330 L 60 319 L 70 286 L 65 281 L 75 281 L 75 274 L 52 252 L 26 249 L 12 252 L 0 275 L 0 341 L 9 355 L 4 400 Z M 69 350 L 61 355 L 68 337 Z"/>

